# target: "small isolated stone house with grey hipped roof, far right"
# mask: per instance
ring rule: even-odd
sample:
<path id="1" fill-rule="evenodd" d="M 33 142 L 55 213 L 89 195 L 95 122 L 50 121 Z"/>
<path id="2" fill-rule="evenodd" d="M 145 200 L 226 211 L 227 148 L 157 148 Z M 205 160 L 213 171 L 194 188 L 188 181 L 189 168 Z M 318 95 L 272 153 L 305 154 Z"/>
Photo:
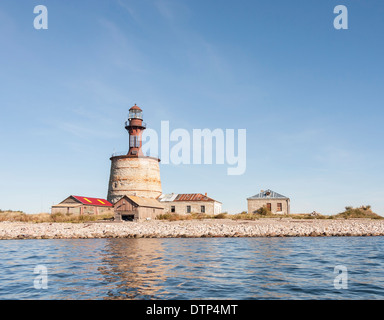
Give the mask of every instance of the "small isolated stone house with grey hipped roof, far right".
<path id="1" fill-rule="evenodd" d="M 276 214 L 290 213 L 290 199 L 272 190 L 261 190 L 253 197 L 247 198 L 248 213 L 255 213 L 257 209 L 265 206 L 269 211 Z"/>

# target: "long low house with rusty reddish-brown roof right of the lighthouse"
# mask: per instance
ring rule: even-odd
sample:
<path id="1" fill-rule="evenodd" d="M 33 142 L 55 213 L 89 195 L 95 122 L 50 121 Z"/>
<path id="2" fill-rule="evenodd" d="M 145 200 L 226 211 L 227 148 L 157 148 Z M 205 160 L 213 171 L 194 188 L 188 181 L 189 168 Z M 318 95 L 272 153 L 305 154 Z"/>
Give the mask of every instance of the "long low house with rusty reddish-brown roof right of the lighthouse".
<path id="1" fill-rule="evenodd" d="M 221 213 L 221 202 L 201 193 L 162 194 L 157 198 L 164 205 L 165 213 L 190 214 L 206 213 L 208 215 Z"/>

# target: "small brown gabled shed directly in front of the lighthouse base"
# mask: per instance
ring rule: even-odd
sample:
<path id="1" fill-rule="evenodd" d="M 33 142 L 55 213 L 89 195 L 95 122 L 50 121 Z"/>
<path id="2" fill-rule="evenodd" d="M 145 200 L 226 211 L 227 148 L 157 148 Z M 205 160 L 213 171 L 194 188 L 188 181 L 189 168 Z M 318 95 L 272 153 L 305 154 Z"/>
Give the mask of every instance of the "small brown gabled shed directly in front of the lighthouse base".
<path id="1" fill-rule="evenodd" d="M 123 196 L 114 206 L 115 221 L 155 219 L 164 213 L 164 206 L 153 198 Z"/>

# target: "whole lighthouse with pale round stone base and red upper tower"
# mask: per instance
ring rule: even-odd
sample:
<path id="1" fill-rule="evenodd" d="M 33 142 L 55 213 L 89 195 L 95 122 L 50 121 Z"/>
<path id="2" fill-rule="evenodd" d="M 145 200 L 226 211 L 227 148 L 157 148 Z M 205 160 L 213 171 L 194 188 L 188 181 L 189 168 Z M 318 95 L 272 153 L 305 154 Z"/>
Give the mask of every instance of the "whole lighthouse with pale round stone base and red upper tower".
<path id="1" fill-rule="evenodd" d="M 129 109 L 125 129 L 129 133 L 129 151 L 112 156 L 108 201 L 116 203 L 122 196 L 157 198 L 161 195 L 160 159 L 146 157 L 141 150 L 142 133 L 146 125 L 143 111 L 135 104 Z"/>

